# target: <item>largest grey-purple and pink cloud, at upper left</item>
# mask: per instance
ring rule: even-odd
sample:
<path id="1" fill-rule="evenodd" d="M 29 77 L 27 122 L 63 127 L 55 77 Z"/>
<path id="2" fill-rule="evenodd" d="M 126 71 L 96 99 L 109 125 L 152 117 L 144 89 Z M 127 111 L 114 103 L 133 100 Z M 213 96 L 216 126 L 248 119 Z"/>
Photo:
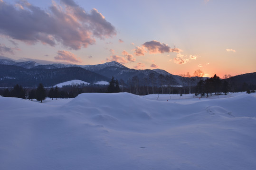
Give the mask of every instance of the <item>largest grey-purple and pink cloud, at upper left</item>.
<path id="1" fill-rule="evenodd" d="M 0 33 L 28 44 L 60 43 L 78 50 L 94 44 L 95 37 L 104 39 L 116 34 L 114 26 L 97 9 L 87 13 L 73 0 L 61 0 L 61 4 L 53 1 L 49 11 L 26 0 L 18 4 L 0 0 L 0 23 L 4 23 L 0 25 Z"/>

